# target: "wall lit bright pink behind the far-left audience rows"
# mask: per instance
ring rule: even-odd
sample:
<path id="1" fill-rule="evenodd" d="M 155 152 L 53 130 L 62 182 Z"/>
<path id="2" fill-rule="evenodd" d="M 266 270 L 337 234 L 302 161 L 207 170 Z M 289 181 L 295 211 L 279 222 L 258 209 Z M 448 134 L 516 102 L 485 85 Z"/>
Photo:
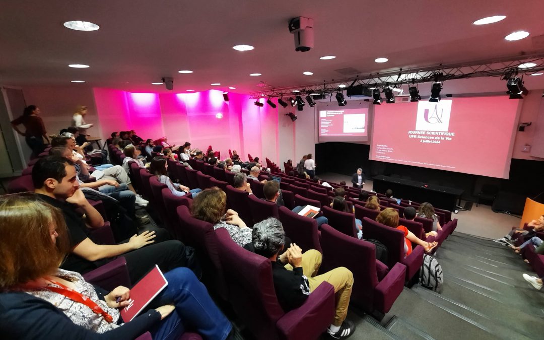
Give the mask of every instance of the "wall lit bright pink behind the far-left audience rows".
<path id="1" fill-rule="evenodd" d="M 221 158 L 231 149 L 244 160 L 250 153 L 279 163 L 277 109 L 257 107 L 247 95 L 230 93 L 225 102 L 218 90 L 151 94 L 94 89 L 94 94 L 104 137 L 135 129 L 142 138 L 166 136 L 170 144 L 190 141 L 202 150 L 212 145 Z"/>

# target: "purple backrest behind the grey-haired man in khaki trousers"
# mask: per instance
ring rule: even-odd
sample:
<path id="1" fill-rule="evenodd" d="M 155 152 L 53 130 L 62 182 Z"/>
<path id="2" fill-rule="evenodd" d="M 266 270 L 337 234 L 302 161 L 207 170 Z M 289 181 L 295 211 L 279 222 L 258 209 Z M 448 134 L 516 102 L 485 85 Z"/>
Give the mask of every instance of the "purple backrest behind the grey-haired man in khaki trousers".
<path id="1" fill-rule="evenodd" d="M 237 316 L 256 339 L 276 338 L 276 323 L 284 312 L 279 305 L 272 279 L 270 260 L 240 247 L 225 228 L 218 228 L 219 258 L 231 304 Z M 250 322 L 249 322 L 250 321 Z"/>

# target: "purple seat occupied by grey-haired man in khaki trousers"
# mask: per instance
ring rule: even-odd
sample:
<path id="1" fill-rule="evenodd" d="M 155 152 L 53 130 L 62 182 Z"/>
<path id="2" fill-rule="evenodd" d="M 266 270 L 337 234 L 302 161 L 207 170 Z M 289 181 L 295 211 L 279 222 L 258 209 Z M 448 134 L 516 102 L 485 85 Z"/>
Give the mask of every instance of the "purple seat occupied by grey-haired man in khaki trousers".
<path id="1" fill-rule="evenodd" d="M 231 304 L 256 339 L 317 339 L 330 325 L 335 310 L 334 289 L 323 282 L 306 302 L 282 310 L 276 298 L 270 260 L 243 249 L 223 228 L 216 231 L 219 258 Z"/>

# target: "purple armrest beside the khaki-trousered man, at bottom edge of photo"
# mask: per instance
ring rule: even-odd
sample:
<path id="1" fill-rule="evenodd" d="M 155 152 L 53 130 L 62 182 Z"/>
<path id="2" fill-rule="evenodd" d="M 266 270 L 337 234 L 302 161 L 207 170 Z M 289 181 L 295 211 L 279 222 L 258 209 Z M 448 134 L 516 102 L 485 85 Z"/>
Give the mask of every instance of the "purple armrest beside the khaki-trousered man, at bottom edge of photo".
<path id="1" fill-rule="evenodd" d="M 317 339 L 331 324 L 335 314 L 335 289 L 322 282 L 304 305 L 283 315 L 276 327 L 283 339 Z"/>

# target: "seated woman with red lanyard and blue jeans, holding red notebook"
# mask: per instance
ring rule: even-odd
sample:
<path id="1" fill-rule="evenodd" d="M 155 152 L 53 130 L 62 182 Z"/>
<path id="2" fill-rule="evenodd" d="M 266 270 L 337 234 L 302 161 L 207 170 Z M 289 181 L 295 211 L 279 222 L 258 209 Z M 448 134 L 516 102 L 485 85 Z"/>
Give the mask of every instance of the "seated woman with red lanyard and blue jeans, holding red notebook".
<path id="1" fill-rule="evenodd" d="M 63 215 L 33 195 L 0 197 L 0 232 L 0 332 L 7 338 L 133 339 L 150 331 L 153 339 L 177 339 L 188 328 L 225 339 L 231 332 L 188 268 L 164 273 L 168 286 L 144 313 L 123 323 L 119 309 L 129 305 L 131 291 L 119 286 L 107 293 L 59 269 L 69 250 Z"/>

